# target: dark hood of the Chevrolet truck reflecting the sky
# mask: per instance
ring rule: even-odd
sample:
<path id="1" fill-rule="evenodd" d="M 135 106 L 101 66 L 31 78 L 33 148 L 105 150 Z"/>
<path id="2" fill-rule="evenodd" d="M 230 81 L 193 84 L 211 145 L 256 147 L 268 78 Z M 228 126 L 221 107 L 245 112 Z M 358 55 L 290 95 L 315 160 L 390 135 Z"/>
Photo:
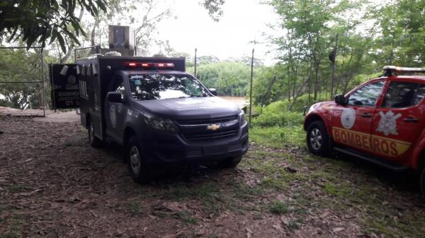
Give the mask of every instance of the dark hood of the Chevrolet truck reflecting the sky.
<path id="1" fill-rule="evenodd" d="M 135 101 L 141 110 L 164 119 L 208 119 L 239 114 L 241 109 L 220 97 L 187 97 Z"/>

